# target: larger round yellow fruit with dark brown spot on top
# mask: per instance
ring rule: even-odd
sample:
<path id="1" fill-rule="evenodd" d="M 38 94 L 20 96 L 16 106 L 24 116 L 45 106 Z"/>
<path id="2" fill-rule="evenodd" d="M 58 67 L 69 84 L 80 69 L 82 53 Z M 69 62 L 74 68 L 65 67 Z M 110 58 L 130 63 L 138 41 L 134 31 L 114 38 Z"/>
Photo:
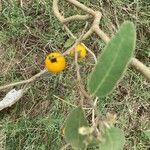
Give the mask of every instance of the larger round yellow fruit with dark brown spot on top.
<path id="1" fill-rule="evenodd" d="M 50 53 L 45 59 L 45 67 L 52 73 L 59 73 L 65 69 L 66 60 L 58 52 Z"/>

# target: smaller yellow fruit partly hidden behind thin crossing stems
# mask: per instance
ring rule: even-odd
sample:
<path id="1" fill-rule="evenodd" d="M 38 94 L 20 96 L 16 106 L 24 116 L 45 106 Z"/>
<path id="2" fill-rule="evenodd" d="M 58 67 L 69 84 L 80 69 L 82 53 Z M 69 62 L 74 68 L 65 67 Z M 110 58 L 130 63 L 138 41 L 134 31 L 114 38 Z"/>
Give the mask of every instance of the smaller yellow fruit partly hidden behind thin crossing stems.
<path id="1" fill-rule="evenodd" d="M 76 45 L 75 49 L 78 52 L 79 59 L 84 59 L 86 57 L 87 52 L 83 43 Z M 71 50 L 72 56 L 75 55 L 75 49 Z"/>

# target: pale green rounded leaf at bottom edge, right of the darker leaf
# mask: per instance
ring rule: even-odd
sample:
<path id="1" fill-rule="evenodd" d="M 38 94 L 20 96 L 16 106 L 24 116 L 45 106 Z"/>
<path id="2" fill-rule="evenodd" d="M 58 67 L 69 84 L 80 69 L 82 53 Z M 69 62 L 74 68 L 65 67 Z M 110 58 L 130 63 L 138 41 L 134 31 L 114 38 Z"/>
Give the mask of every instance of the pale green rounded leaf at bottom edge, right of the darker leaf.
<path id="1" fill-rule="evenodd" d="M 100 144 L 100 150 L 123 150 L 125 136 L 119 128 L 106 129 L 103 138 L 104 142 Z"/>

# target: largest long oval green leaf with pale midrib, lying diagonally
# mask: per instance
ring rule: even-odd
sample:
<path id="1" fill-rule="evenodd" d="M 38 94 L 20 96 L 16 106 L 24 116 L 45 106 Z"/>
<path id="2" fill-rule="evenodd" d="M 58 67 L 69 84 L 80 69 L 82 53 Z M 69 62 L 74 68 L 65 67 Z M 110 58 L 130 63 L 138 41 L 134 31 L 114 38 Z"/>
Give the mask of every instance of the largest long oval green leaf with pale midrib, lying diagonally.
<path id="1" fill-rule="evenodd" d="M 132 22 L 124 22 L 98 58 L 92 71 L 88 88 L 91 94 L 104 97 L 109 94 L 123 73 L 133 55 L 136 30 Z"/>

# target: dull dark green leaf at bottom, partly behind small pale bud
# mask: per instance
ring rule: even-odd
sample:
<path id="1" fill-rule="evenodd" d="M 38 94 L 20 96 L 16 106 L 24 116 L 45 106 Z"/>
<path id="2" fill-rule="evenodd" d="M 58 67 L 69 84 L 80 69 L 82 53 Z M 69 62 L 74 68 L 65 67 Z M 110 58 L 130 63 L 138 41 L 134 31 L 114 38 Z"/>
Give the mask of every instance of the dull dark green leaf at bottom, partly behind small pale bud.
<path id="1" fill-rule="evenodd" d="M 65 139 L 74 149 L 85 149 L 86 136 L 79 134 L 80 127 L 87 127 L 88 123 L 81 107 L 74 109 L 65 123 Z"/>

